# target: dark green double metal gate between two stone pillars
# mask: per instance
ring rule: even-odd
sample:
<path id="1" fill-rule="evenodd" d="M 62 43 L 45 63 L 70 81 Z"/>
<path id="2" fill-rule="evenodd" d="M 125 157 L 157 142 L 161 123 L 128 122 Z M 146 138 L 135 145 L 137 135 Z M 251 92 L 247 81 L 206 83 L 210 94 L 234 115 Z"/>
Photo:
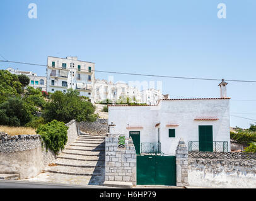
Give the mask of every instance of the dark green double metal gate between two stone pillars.
<path id="1" fill-rule="evenodd" d="M 137 185 L 176 185 L 176 156 L 137 156 Z"/>

